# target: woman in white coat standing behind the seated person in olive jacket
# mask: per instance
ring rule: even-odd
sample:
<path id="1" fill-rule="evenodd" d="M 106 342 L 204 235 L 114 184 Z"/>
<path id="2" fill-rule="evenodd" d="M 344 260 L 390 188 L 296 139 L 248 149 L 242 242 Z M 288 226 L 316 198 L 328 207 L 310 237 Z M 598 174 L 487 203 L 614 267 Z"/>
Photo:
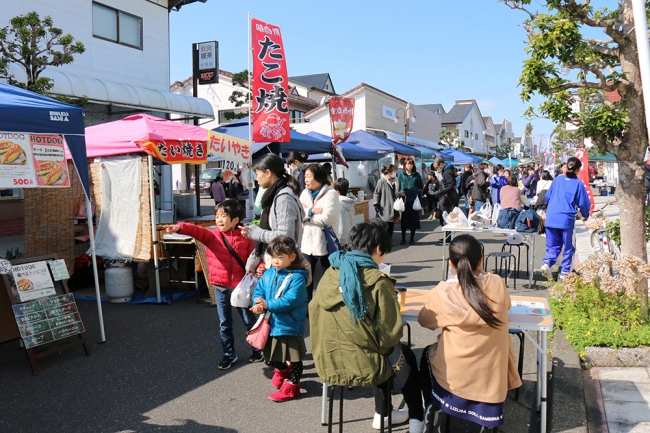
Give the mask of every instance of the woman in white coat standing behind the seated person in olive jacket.
<path id="1" fill-rule="evenodd" d="M 323 227 L 330 226 L 337 232 L 341 213 L 338 193 L 327 182 L 323 166 L 309 164 L 305 168 L 305 189 L 300 194 L 300 204 L 305 210 L 300 250 L 311 265 L 312 282 L 307 286 L 307 297 L 311 301 L 316 263 L 320 261 L 323 269 L 330 267 Z"/>

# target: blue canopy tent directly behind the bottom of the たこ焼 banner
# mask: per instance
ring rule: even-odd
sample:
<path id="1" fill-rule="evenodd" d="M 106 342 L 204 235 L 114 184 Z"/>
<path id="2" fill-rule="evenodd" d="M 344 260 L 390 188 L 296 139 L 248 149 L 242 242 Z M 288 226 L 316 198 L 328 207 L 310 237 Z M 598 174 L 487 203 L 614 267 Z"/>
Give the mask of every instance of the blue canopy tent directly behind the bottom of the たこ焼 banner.
<path id="1" fill-rule="evenodd" d="M 214 128 L 213 131 L 248 140 L 248 117 L 234 120 L 227 125 Z M 282 153 L 285 155 L 292 150 L 299 150 L 307 154 L 326 153 L 332 150 L 331 141 L 319 140 L 293 130 L 290 131 L 290 134 L 291 141 L 288 143 L 276 143 L 271 141 L 265 143 L 253 143 L 253 154 L 258 152 L 265 153 L 264 149 L 267 149 L 266 152 Z"/>

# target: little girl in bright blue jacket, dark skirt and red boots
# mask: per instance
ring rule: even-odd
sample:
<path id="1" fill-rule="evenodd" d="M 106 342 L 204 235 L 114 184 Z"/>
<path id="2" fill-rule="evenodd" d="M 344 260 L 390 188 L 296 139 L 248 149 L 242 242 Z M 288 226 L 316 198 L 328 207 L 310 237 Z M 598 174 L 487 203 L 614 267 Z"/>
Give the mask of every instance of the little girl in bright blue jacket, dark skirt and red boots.
<path id="1" fill-rule="evenodd" d="M 251 311 L 271 312 L 264 358 L 275 368 L 271 384 L 279 389 L 269 398 L 281 402 L 300 396 L 302 360 L 307 354 L 303 333 L 309 271 L 302 267 L 296 243 L 288 236 L 273 239 L 266 252 L 271 256 L 271 269 L 264 272 L 255 287 Z"/>

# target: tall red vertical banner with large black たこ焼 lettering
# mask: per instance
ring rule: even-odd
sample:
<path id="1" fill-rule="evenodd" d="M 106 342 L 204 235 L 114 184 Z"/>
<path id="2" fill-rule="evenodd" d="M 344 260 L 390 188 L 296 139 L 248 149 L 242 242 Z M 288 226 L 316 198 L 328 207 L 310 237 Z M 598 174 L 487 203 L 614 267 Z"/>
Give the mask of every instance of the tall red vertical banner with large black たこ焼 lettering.
<path id="1" fill-rule="evenodd" d="M 253 141 L 289 142 L 287 61 L 280 28 L 251 20 Z"/>

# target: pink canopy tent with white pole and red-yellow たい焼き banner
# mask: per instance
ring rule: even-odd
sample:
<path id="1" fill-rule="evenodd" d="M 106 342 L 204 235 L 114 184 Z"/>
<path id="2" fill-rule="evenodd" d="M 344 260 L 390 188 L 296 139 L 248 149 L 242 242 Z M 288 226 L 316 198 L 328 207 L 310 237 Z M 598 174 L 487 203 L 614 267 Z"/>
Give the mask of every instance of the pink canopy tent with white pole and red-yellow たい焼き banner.
<path id="1" fill-rule="evenodd" d="M 127 155 L 133 153 L 147 153 L 149 159 L 149 178 L 153 179 L 153 158 L 165 161 L 167 163 L 193 163 L 204 164 L 206 140 L 208 130 L 199 126 L 188 125 L 186 123 L 174 122 L 162 119 L 160 117 L 150 116 L 148 114 L 134 114 L 124 119 L 114 122 L 102 123 L 100 125 L 89 126 L 86 132 L 86 155 L 88 158 L 97 158 L 102 156 Z M 157 144 L 160 142 L 178 143 L 178 142 L 197 142 L 203 143 L 202 157 L 188 159 L 183 157 L 165 158 L 158 151 Z M 198 152 L 197 152 L 198 153 Z M 68 159 L 71 155 L 66 154 Z M 151 201 L 151 233 L 154 244 L 157 242 L 156 234 L 156 213 L 153 182 L 149 186 L 149 198 Z M 93 246 L 91 245 L 91 248 Z M 93 256 L 95 251 L 93 248 Z M 160 279 L 158 273 L 158 251 L 153 249 L 154 267 L 156 269 L 156 292 L 158 303 L 160 303 Z"/>

